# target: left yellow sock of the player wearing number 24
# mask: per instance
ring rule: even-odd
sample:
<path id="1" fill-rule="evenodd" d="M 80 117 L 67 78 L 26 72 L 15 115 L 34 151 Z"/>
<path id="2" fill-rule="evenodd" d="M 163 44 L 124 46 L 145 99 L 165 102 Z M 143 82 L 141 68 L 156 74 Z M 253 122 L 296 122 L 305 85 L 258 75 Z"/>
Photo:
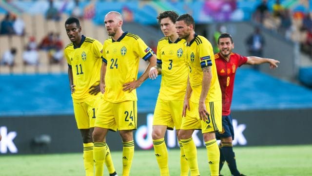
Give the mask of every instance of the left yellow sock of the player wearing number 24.
<path id="1" fill-rule="evenodd" d="M 105 155 L 106 142 L 94 142 L 93 158 L 95 164 L 95 176 L 103 176 Z"/>

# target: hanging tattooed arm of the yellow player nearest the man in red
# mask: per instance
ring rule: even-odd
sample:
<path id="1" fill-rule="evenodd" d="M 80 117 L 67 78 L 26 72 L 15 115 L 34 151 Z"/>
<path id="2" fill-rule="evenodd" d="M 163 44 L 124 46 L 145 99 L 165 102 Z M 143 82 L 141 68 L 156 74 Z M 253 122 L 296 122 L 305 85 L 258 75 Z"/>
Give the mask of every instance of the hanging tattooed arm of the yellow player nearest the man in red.
<path id="1" fill-rule="evenodd" d="M 212 71 L 211 71 L 211 66 L 205 66 L 202 68 L 203 70 L 203 80 L 201 83 L 201 93 L 199 97 L 199 107 L 198 107 L 198 112 L 199 112 L 199 117 L 203 121 L 208 120 L 209 112 L 206 109 L 205 105 L 205 100 L 210 88 L 211 80 L 212 80 Z"/>

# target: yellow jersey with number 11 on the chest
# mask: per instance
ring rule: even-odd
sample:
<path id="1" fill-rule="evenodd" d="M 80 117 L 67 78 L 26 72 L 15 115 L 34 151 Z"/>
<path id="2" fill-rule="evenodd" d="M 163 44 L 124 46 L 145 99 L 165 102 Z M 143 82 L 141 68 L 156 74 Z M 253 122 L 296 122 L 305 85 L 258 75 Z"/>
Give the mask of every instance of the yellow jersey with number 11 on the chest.
<path id="1" fill-rule="evenodd" d="M 79 46 L 68 44 L 64 49 L 67 64 L 72 68 L 75 92 L 73 102 L 80 103 L 94 96 L 89 88 L 99 84 L 101 68 L 101 50 L 103 45 L 98 40 L 82 35 Z"/>

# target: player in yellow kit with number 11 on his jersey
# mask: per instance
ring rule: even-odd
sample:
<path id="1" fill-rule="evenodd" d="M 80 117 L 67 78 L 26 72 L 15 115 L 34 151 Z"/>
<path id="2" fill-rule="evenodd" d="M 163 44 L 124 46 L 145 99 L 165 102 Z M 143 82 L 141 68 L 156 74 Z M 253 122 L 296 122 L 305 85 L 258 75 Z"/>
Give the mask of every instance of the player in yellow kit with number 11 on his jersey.
<path id="1" fill-rule="evenodd" d="M 94 175 L 92 132 L 98 110 L 100 94 L 99 75 L 102 44 L 95 39 L 81 35 L 77 18 L 70 17 L 65 22 L 68 38 L 72 43 L 64 49 L 68 63 L 68 77 L 73 97 L 77 127 L 83 141 L 83 162 L 86 176 Z M 110 176 L 117 176 L 108 146 L 105 164 Z"/>

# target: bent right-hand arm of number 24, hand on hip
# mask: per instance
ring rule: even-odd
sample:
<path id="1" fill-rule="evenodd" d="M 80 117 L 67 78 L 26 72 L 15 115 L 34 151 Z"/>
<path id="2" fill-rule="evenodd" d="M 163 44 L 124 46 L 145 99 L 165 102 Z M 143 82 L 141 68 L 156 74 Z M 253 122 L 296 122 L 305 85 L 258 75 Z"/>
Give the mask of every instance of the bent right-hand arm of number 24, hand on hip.
<path id="1" fill-rule="evenodd" d="M 141 86 L 141 84 L 148 78 L 150 69 L 153 66 L 156 66 L 156 56 L 152 55 L 149 59 L 149 62 L 150 63 L 144 70 L 143 74 L 137 80 L 129 82 L 129 83 L 125 83 L 124 85 L 122 85 L 123 91 L 129 90 L 129 92 L 131 92 L 133 89 L 136 89 Z"/>

